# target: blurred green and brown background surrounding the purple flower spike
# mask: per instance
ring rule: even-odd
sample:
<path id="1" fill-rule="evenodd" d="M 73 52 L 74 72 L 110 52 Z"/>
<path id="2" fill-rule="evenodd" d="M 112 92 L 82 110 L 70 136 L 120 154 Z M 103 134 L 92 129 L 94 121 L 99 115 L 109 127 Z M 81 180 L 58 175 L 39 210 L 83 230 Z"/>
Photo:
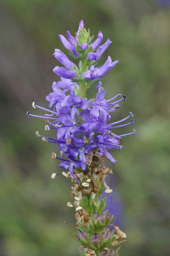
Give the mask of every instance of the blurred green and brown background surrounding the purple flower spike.
<path id="1" fill-rule="evenodd" d="M 112 44 L 107 56 L 119 60 L 102 79 L 106 98 L 120 90 L 127 101 L 112 121 L 134 114 L 134 125 L 115 131 L 137 130 L 124 137 L 111 176 L 111 212 L 128 242 L 121 256 L 168 256 L 170 252 L 169 81 L 170 6 L 168 0 L 1 0 L 0 3 L 0 256 L 78 256 L 78 243 L 68 233 L 75 225 L 71 181 L 61 173 L 59 154 L 43 143 L 44 114 L 32 102 L 48 107 L 45 97 L 59 77 L 55 48 L 66 50 L 58 34 L 77 31 L 81 19 L 91 35 L 102 31 Z M 67 54 L 67 53 L 66 53 Z M 68 56 L 68 55 L 67 55 Z M 71 57 L 70 57 L 71 58 Z M 95 97 L 96 89 L 87 92 Z M 51 136 L 55 136 L 49 131 Z M 49 145 L 50 144 L 50 145 Z M 112 167 L 109 161 L 106 166 Z M 71 201 L 72 202 L 72 201 Z"/>

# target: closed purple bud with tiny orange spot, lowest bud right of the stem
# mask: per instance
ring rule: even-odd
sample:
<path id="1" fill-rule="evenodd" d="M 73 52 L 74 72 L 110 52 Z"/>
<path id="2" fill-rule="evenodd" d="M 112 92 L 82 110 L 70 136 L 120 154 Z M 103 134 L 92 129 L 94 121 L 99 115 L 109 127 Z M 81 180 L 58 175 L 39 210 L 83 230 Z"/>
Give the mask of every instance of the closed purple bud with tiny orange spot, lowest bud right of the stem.
<path id="1" fill-rule="evenodd" d="M 103 66 L 96 67 L 96 68 L 94 68 L 94 66 L 91 66 L 90 70 L 82 73 L 81 76 L 83 76 L 87 80 L 97 80 L 97 79 L 103 77 L 118 62 L 119 61 L 111 62 L 111 58 L 110 58 L 110 56 L 108 56 L 108 59 L 105 62 L 105 64 L 103 64 Z"/>

